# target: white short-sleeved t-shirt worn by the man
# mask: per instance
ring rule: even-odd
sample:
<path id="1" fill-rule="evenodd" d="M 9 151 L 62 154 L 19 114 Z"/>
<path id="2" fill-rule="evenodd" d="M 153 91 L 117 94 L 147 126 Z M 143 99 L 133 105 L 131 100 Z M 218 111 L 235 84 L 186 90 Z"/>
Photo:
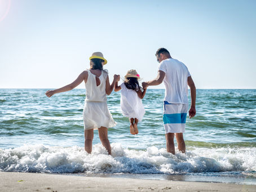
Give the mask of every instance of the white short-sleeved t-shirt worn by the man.
<path id="1" fill-rule="evenodd" d="M 188 103 L 188 68 L 176 59 L 166 59 L 159 65 L 159 70 L 165 72 L 165 101 L 171 104 Z"/>

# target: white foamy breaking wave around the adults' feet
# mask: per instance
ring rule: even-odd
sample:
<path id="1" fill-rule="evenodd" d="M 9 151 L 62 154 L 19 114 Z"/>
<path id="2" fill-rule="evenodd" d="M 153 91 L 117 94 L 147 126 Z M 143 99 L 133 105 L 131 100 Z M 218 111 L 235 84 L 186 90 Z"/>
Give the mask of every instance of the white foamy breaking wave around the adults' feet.
<path id="1" fill-rule="evenodd" d="M 0 171 L 45 173 L 205 173 L 256 171 L 256 148 L 191 148 L 185 154 L 151 146 L 123 149 L 113 143 L 112 156 L 101 144 L 92 154 L 78 146 L 24 145 L 0 149 Z"/>

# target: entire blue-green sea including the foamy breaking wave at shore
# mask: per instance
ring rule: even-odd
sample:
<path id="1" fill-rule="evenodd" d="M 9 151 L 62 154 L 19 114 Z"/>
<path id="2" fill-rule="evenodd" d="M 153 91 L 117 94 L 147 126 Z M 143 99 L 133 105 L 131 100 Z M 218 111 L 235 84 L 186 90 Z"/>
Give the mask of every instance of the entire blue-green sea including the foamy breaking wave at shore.
<path id="1" fill-rule="evenodd" d="M 187 117 L 184 133 L 187 151 L 175 148 L 175 155 L 165 147 L 164 90 L 147 90 L 135 136 L 121 113 L 120 92 L 112 92 L 112 156 L 97 130 L 92 153 L 84 150 L 85 90 L 51 98 L 46 91 L 0 89 L 0 171 L 256 184 L 256 90 L 197 90 L 197 114 Z"/>

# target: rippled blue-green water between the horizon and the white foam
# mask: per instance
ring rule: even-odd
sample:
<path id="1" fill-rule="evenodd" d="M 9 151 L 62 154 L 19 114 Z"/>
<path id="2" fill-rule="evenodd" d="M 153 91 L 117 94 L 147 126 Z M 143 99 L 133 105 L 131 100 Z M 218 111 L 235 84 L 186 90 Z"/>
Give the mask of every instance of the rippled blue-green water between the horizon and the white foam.
<path id="1" fill-rule="evenodd" d="M 0 90 L 0 134 L 2 146 L 13 146 L 10 138 L 23 143 L 25 137 L 34 134 L 35 140 L 51 141 L 53 144 L 65 140 L 71 133 L 79 133 L 79 139 L 65 144 L 83 145 L 82 111 L 85 90 L 72 90 L 54 97 L 45 96 L 47 90 Z M 162 122 L 164 90 L 148 90 L 143 99 L 145 116 L 139 123 L 139 135 L 129 131 L 129 119 L 120 109 L 120 92 L 108 96 L 108 108 L 116 127 L 109 129 L 111 142 L 121 142 L 126 147 L 145 149 L 148 146 L 165 146 L 165 130 Z M 189 101 L 190 102 L 190 101 Z M 256 129 L 256 90 L 197 90 L 197 115 L 187 118 L 184 138 L 205 143 L 254 144 Z M 16 134 L 16 135 L 15 135 Z M 100 142 L 94 132 L 94 144 Z M 4 135 L 4 136 L 3 136 Z M 5 140 L 5 142 L 2 142 Z M 137 143 L 138 142 L 138 143 Z M 201 145 L 201 144 L 198 144 Z M 207 145 L 207 144 L 205 144 Z M 218 147 L 218 146 L 217 146 Z"/>

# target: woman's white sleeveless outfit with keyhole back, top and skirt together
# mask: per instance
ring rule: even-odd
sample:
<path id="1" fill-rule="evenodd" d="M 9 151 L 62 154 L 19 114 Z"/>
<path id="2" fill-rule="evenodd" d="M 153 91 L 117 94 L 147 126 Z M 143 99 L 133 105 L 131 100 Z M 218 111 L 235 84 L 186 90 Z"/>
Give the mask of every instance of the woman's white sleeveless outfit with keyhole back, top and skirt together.
<path id="1" fill-rule="evenodd" d="M 107 105 L 106 79 L 108 73 L 101 71 L 100 84 L 96 86 L 96 76 L 87 70 L 88 79 L 85 83 L 86 99 L 83 108 L 83 124 L 85 130 L 98 129 L 99 127 L 114 127 L 116 122 L 111 116 Z"/>

